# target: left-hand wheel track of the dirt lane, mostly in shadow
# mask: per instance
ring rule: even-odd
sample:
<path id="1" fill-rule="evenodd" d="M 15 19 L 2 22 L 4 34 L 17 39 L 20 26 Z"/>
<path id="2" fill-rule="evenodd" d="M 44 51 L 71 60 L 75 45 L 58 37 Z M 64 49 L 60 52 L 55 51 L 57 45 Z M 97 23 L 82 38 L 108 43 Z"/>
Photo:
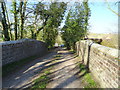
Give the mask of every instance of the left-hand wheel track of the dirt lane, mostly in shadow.
<path id="1" fill-rule="evenodd" d="M 12 73 L 11 75 L 4 77 L 2 80 L 3 88 L 25 88 L 30 83 L 39 77 L 40 72 L 43 69 L 43 66 L 47 62 L 51 62 L 54 55 L 57 54 L 57 51 L 53 51 L 44 57 L 38 58 L 31 61 L 30 63 L 22 66 L 20 70 Z"/>

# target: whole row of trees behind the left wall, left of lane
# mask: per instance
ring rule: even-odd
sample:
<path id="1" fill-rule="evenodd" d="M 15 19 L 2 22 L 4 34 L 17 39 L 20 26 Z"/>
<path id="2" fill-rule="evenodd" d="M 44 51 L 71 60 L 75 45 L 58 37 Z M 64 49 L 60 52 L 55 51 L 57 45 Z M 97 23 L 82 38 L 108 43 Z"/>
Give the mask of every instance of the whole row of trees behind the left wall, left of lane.
<path id="1" fill-rule="evenodd" d="M 3 33 L 4 39 L 13 40 L 14 38 L 17 40 L 26 37 L 38 39 L 39 36 L 47 43 L 48 47 L 53 47 L 67 4 L 63 2 L 38 2 L 27 5 L 27 3 L 29 2 L 12 0 L 10 13 L 6 11 L 5 4 L 1 3 L 4 28 L 1 33 Z"/>

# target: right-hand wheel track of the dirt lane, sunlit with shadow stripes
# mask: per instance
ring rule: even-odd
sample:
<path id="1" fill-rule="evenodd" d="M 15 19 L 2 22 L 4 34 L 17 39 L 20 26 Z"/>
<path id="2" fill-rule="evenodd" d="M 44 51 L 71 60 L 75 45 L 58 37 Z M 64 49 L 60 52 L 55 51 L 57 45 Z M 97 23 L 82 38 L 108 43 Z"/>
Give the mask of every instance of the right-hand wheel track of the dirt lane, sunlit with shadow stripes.
<path id="1" fill-rule="evenodd" d="M 80 63 L 79 58 L 65 50 L 59 53 L 63 59 L 56 60 L 56 62 L 62 63 L 51 70 L 52 74 L 49 77 L 52 77 L 52 82 L 47 85 L 47 88 L 82 88 L 81 80 L 77 76 L 80 69 L 76 67 Z"/>

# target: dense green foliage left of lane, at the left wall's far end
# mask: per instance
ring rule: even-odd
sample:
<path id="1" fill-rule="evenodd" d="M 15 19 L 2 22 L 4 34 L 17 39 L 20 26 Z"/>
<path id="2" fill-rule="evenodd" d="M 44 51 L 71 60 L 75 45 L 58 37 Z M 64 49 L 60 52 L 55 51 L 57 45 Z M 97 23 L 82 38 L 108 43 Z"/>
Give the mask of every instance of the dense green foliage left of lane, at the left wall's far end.
<path id="1" fill-rule="evenodd" d="M 58 36 L 58 27 L 63 19 L 66 4 L 63 2 L 51 3 L 48 12 L 44 10 L 50 17 L 43 29 L 43 40 L 47 43 L 48 48 L 52 48 Z M 43 17 L 45 17 L 43 15 Z"/>

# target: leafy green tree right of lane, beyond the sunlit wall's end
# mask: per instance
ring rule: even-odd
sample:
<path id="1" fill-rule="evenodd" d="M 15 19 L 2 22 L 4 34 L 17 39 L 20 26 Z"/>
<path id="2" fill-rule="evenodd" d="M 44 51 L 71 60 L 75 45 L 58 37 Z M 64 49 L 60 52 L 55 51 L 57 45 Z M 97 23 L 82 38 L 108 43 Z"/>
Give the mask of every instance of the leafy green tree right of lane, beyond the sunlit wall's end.
<path id="1" fill-rule="evenodd" d="M 62 38 L 68 49 L 75 49 L 75 43 L 84 38 L 87 33 L 90 10 L 87 2 L 75 3 L 68 13 Z"/>

